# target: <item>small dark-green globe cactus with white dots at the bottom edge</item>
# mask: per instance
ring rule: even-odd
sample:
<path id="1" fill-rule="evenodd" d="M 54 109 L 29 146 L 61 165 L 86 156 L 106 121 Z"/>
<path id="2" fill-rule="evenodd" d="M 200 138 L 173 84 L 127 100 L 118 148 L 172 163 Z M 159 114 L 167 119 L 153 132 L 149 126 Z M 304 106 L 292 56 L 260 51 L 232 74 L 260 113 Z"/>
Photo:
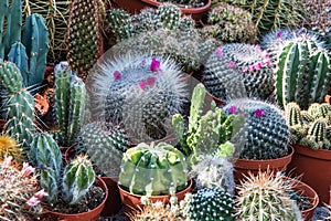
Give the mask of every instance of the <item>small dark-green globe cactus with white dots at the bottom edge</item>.
<path id="1" fill-rule="evenodd" d="M 189 203 L 190 220 L 235 220 L 234 200 L 218 188 L 204 188 L 192 196 Z"/>

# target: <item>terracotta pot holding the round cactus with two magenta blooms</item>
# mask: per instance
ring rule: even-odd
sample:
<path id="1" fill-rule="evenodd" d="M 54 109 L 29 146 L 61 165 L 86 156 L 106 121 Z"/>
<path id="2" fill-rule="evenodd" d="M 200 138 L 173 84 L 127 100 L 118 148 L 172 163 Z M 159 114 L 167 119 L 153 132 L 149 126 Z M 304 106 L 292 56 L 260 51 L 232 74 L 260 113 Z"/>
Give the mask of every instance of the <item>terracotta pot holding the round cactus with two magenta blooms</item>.
<path id="1" fill-rule="evenodd" d="M 293 151 L 293 148 L 289 146 L 289 154 L 278 159 L 250 160 L 233 158 L 235 182 L 239 183 L 241 180 L 245 179 L 245 176 L 248 176 L 248 171 L 253 175 L 257 175 L 258 171 L 267 171 L 268 168 L 275 172 L 285 171 L 292 159 Z"/>

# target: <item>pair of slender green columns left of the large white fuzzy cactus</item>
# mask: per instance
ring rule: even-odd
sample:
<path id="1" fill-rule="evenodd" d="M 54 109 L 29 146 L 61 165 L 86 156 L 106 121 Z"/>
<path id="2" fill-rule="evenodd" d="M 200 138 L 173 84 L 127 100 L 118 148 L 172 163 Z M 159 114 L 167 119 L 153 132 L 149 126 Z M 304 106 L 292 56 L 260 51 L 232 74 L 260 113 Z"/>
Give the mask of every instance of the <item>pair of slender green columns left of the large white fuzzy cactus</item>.
<path id="1" fill-rule="evenodd" d="M 58 143 L 71 146 L 85 117 L 87 93 L 84 82 L 73 73 L 66 62 L 55 66 L 55 119 L 60 127 Z"/>

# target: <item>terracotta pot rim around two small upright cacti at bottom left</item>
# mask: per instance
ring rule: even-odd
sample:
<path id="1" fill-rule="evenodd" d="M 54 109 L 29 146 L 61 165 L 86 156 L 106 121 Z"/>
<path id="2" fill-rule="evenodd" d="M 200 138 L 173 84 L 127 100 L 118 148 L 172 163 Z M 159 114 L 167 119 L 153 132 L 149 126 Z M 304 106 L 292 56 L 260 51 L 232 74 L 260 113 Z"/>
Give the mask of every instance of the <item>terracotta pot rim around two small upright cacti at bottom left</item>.
<path id="1" fill-rule="evenodd" d="M 57 218 L 61 221 L 97 221 L 100 217 L 100 212 L 103 211 L 106 200 L 108 198 L 108 189 L 106 183 L 99 178 L 96 177 L 96 186 L 103 188 L 106 196 L 103 202 L 95 209 L 89 210 L 87 212 L 76 213 L 76 214 L 65 214 L 60 212 L 47 211 L 49 215 L 53 218 Z"/>

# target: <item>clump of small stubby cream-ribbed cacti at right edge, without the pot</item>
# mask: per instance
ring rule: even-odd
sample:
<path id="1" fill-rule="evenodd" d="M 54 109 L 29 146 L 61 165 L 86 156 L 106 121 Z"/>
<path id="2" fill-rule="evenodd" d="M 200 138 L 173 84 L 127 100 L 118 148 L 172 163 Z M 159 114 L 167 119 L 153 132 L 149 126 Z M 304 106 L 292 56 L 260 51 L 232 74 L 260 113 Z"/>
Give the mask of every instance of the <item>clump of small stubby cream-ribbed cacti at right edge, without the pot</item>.
<path id="1" fill-rule="evenodd" d="M 331 149 L 331 105 L 313 103 L 301 110 L 296 103 L 285 108 L 291 131 L 291 144 L 299 143 L 312 149 Z"/>

